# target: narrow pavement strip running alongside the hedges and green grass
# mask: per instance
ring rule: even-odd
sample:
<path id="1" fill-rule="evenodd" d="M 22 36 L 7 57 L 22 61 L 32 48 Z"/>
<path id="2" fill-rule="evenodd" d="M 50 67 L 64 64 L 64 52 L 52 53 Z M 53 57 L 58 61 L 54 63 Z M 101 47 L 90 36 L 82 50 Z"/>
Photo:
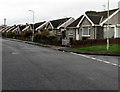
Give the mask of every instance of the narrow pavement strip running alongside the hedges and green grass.
<path id="1" fill-rule="evenodd" d="M 17 40 L 17 39 L 10 39 L 10 40 L 15 40 L 15 41 L 20 41 L 21 40 Z M 35 42 L 31 42 L 31 41 L 22 41 L 28 44 L 33 44 L 33 45 L 39 45 L 42 47 L 48 47 L 48 48 L 52 48 L 55 50 L 59 50 L 59 51 L 64 51 L 64 52 L 73 52 L 73 53 L 77 53 L 77 54 L 87 54 L 87 55 L 104 55 L 104 56 L 120 56 L 120 52 L 119 53 L 110 53 L 110 52 L 94 52 L 94 51 L 82 51 L 82 50 L 76 50 L 74 48 L 70 48 L 70 47 L 63 47 L 63 46 L 53 46 L 53 45 L 45 45 L 45 44 L 41 44 L 41 43 L 35 43 Z"/>

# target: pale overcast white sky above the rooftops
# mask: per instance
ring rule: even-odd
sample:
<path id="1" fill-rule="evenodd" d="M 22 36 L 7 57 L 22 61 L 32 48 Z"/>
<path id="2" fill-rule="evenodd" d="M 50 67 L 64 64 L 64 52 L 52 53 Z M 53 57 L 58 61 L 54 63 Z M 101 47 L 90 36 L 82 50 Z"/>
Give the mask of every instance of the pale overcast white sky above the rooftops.
<path id="1" fill-rule="evenodd" d="M 78 18 L 85 11 L 103 11 L 107 9 L 108 0 L 0 0 L 0 25 L 4 18 L 7 25 L 49 21 L 64 17 Z M 119 0 L 110 0 L 110 9 L 118 8 Z M 103 7 L 106 5 L 106 8 Z"/>

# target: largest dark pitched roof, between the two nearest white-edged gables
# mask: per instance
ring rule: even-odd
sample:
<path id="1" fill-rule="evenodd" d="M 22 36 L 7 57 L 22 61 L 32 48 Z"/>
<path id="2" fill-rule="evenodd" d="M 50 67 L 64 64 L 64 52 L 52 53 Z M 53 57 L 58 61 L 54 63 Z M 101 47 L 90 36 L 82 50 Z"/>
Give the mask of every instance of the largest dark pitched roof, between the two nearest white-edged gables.
<path id="1" fill-rule="evenodd" d="M 112 15 L 117 10 L 118 9 L 110 10 L 109 15 Z M 101 12 L 87 11 L 85 14 L 94 24 L 100 24 L 100 22 L 103 22 L 108 17 L 108 11 L 101 11 Z"/>

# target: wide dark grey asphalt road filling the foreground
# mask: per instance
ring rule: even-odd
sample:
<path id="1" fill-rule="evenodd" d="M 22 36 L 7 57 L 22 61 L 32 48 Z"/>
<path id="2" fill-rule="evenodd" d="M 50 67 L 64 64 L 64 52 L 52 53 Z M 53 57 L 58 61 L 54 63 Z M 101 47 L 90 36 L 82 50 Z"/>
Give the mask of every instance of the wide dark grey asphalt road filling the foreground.
<path id="1" fill-rule="evenodd" d="M 3 90 L 118 89 L 117 66 L 17 41 L 2 48 Z"/>

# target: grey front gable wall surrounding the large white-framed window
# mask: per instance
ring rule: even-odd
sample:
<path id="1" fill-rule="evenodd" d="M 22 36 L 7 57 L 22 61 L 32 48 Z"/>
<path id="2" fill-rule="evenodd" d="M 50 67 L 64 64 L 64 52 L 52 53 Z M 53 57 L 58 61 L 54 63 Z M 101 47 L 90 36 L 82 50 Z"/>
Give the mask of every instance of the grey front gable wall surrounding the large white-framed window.
<path id="1" fill-rule="evenodd" d="M 90 37 L 88 37 L 88 39 L 95 39 L 95 35 L 94 35 L 94 32 L 95 32 L 95 28 L 92 27 L 91 23 L 87 20 L 87 18 L 85 18 L 83 20 L 83 22 L 81 23 L 80 26 L 80 29 L 79 29 L 79 38 L 80 40 L 82 40 L 83 36 L 82 36 L 82 28 L 83 26 L 89 26 L 90 28 Z"/>

